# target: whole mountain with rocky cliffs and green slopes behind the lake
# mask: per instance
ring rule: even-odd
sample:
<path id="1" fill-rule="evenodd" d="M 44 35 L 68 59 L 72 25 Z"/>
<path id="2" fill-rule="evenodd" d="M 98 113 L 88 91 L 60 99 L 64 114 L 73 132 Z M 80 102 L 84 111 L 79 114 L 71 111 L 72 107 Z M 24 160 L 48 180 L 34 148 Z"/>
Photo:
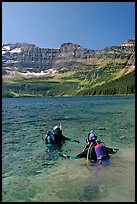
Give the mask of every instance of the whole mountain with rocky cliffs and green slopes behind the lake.
<path id="1" fill-rule="evenodd" d="M 58 49 L 28 43 L 2 46 L 3 96 L 129 94 L 135 92 L 134 72 L 134 39 L 101 50 L 70 42 Z M 121 91 L 114 81 L 124 84 Z"/>

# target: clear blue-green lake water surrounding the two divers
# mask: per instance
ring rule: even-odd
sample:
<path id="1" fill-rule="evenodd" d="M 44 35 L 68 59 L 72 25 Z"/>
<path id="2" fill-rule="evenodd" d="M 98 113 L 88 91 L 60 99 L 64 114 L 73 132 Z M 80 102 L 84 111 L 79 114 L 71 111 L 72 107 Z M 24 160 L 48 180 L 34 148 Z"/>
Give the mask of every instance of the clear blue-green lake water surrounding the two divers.
<path id="1" fill-rule="evenodd" d="M 42 133 L 60 122 L 80 143 L 48 154 Z M 59 156 L 81 152 L 90 129 L 119 148 L 110 165 Z M 3 202 L 135 201 L 135 97 L 2 99 L 2 194 Z"/>

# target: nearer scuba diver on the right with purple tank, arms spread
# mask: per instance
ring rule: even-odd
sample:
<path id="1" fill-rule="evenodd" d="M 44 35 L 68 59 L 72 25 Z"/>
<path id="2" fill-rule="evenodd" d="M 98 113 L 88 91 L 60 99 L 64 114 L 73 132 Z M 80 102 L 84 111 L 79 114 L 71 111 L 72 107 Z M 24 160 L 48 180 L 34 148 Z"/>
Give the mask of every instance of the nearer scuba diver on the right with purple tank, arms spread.
<path id="1" fill-rule="evenodd" d="M 103 161 L 109 158 L 109 154 L 114 154 L 118 151 L 118 149 L 113 149 L 106 147 L 103 142 L 97 139 L 97 136 L 94 134 L 94 131 L 91 130 L 86 139 L 88 143 L 84 146 L 84 149 L 81 153 L 76 156 L 65 156 L 65 158 L 69 159 L 78 159 L 78 158 L 87 158 L 92 162 Z"/>

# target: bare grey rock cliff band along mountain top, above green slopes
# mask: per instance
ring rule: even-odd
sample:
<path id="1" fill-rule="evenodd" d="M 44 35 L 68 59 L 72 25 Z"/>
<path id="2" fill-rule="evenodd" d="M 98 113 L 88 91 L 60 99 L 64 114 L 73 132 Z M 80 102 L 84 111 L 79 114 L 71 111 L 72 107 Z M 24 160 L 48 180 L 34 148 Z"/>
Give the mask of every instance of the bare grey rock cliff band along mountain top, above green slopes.
<path id="1" fill-rule="evenodd" d="M 28 43 L 5 44 L 2 46 L 4 69 L 21 72 L 41 72 L 51 68 L 75 68 L 88 59 L 126 59 L 127 65 L 135 65 L 135 40 L 101 50 L 88 50 L 80 45 L 64 43 L 59 49 L 39 48 Z"/>

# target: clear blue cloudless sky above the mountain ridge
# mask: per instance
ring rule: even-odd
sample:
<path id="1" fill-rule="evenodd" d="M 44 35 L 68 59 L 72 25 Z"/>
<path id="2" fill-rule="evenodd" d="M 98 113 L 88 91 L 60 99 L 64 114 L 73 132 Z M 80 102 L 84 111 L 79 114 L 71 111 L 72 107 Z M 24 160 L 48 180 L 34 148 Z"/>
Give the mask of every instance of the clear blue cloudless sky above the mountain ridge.
<path id="1" fill-rule="evenodd" d="M 2 2 L 2 44 L 91 50 L 135 38 L 135 2 Z"/>

